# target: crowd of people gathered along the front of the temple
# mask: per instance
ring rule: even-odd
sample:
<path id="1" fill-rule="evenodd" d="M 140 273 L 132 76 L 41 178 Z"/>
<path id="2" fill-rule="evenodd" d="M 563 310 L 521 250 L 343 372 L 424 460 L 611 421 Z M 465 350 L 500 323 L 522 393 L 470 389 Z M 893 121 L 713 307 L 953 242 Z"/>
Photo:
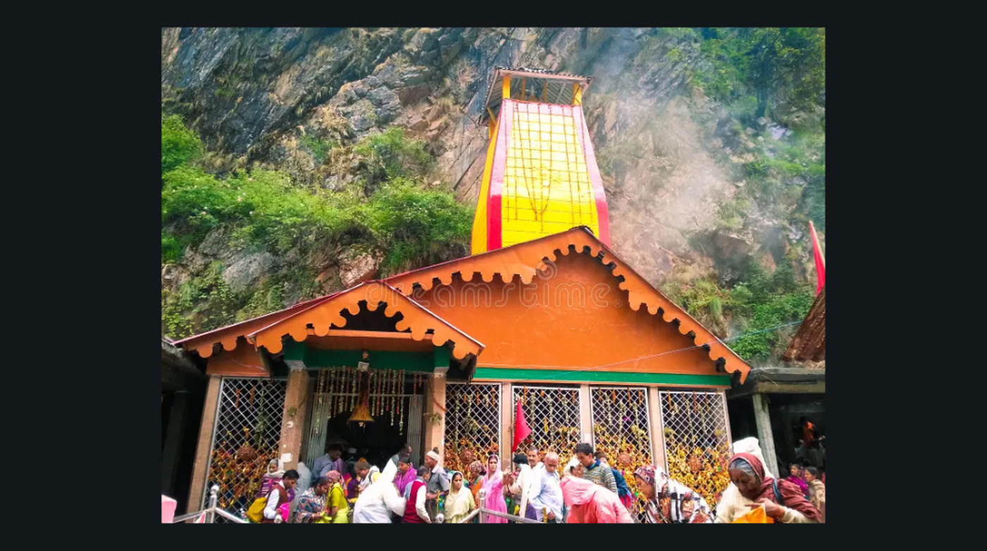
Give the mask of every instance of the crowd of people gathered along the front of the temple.
<path id="1" fill-rule="evenodd" d="M 793 464 L 790 476 L 776 478 L 767 472 L 754 438 L 734 444 L 727 467 L 730 484 L 715 511 L 698 492 L 654 465 L 634 471 L 638 495 L 633 495 L 630 475 L 625 476 L 630 471 L 612 467 L 607 455 L 594 453 L 588 443 L 578 444 L 565 466 L 553 451 L 540 460 L 539 450 L 531 446 L 515 454 L 510 467 L 503 468 L 492 453 L 486 463 L 473 461 L 466 472 L 443 469 L 438 448 L 416 466 L 412 451 L 410 445 L 402 446 L 383 471 L 362 457 L 342 461 L 339 444 L 328 446 L 311 471 L 304 463 L 299 464 L 303 473 L 282 471 L 272 461 L 249 516 L 259 522 L 461 523 L 471 518 L 480 522 L 474 512 L 483 507 L 488 523 L 517 522 L 520 517 L 544 523 L 664 524 L 743 522 L 763 509 L 773 522 L 825 521 L 825 483 L 819 470 Z M 306 488 L 296 500 L 300 480 Z M 639 500 L 644 503 L 640 519 Z"/>

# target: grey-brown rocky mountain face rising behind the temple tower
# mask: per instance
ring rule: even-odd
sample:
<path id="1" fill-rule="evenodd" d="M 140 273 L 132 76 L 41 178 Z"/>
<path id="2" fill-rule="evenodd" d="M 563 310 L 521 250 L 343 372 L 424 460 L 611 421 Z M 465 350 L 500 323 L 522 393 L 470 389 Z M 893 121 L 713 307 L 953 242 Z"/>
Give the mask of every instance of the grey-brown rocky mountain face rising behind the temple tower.
<path id="1" fill-rule="evenodd" d="M 182 116 L 201 137 L 206 153 L 197 162 L 217 178 L 261 168 L 310 193 L 357 186 L 365 197 L 377 185 L 368 184 L 359 144 L 398 126 L 432 160 L 417 185 L 472 207 L 488 144 L 476 120 L 493 67 L 591 75 L 584 110 L 615 251 L 725 338 L 750 329 L 739 314 L 753 319 L 756 308 L 730 291 L 751 270 L 770 278 L 780 266 L 787 282 L 765 296 L 802 288 L 814 279 L 807 219 L 820 238 L 825 228 L 824 87 L 807 99 L 797 88 L 812 76 L 802 74 L 809 61 L 797 56 L 817 62 L 824 37 L 820 46 L 821 30 L 773 32 L 164 29 L 162 112 Z M 763 47 L 774 48 L 772 59 Z M 212 277 L 221 293 L 241 297 L 230 308 L 243 310 L 244 297 L 258 304 L 270 275 L 302 266 L 299 280 L 282 278 L 258 306 L 275 309 L 388 271 L 387 251 L 346 232 L 302 254 L 240 247 L 231 231 L 220 225 L 184 243 L 181 259 L 163 257 L 163 310 L 166 294 L 180 294 L 195 278 Z M 468 241 L 445 249 L 427 260 L 464 256 Z M 248 313 L 258 312 L 239 315 Z M 169 315 L 190 322 L 176 330 L 163 311 L 163 332 L 188 333 L 238 314 L 216 318 L 200 309 L 196 317 L 172 308 Z"/>

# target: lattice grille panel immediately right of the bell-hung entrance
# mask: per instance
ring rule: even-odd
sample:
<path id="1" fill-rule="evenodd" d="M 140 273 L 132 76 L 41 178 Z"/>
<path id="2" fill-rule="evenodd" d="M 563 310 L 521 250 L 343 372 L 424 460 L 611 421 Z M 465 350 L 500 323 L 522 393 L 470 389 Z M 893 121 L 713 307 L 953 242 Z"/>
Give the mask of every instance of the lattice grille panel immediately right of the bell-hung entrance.
<path id="1" fill-rule="evenodd" d="M 500 383 L 453 383 L 445 387 L 445 459 L 447 470 L 463 473 L 470 463 L 499 455 Z"/>

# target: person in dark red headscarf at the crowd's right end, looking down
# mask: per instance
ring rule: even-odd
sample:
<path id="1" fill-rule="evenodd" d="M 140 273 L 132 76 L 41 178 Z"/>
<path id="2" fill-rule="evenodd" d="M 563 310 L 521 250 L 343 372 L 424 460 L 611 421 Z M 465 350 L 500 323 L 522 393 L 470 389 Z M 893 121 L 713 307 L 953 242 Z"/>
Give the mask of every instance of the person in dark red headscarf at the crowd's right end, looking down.
<path id="1" fill-rule="evenodd" d="M 793 483 L 764 476 L 764 464 L 751 453 L 730 457 L 730 486 L 717 504 L 716 522 L 732 522 L 751 510 L 764 507 L 775 522 L 814 523 L 822 515 Z"/>

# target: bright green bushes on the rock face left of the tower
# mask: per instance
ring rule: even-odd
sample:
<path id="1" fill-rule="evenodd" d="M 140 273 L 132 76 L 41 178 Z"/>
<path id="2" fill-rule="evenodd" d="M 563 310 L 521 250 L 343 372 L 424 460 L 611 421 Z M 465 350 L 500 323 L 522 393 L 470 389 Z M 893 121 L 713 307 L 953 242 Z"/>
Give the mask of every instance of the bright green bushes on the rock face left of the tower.
<path id="1" fill-rule="evenodd" d="M 315 138 L 302 143 L 317 158 L 339 146 Z M 385 273 L 431 264 L 450 247 L 467 246 L 473 211 L 444 189 L 425 188 L 433 159 L 423 141 L 393 128 L 351 148 L 361 178 L 342 192 L 301 188 L 263 168 L 219 178 L 193 163 L 203 153 L 201 142 L 181 118 L 162 118 L 162 264 L 182 263 L 187 248 L 213 230 L 230 249 L 266 250 L 277 259 L 273 273 L 238 293 L 218 262 L 178 290 L 163 287 L 163 334 L 186 337 L 283 308 L 288 288 L 302 298 L 318 294 L 317 271 L 305 259 L 343 236 L 382 252 Z"/>

